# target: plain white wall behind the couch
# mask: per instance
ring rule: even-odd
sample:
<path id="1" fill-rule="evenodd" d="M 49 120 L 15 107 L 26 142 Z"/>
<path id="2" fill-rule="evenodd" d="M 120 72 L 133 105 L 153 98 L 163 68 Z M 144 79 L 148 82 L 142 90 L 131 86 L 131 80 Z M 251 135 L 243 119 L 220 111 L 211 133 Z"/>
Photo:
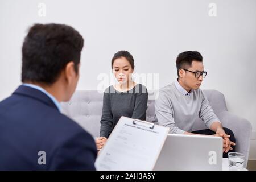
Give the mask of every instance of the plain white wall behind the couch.
<path id="1" fill-rule="evenodd" d="M 38 4 L 46 16 L 38 15 Z M 217 16 L 210 17 L 209 4 Z M 77 89 L 97 89 L 115 52 L 126 49 L 137 73 L 159 73 L 159 87 L 176 78 L 175 59 L 200 51 L 208 75 L 203 89 L 225 94 L 228 110 L 256 127 L 255 0 L 0 0 L 0 100 L 20 84 L 21 46 L 33 23 L 65 23 L 85 38 Z M 256 159 L 251 140 L 250 159 Z"/>

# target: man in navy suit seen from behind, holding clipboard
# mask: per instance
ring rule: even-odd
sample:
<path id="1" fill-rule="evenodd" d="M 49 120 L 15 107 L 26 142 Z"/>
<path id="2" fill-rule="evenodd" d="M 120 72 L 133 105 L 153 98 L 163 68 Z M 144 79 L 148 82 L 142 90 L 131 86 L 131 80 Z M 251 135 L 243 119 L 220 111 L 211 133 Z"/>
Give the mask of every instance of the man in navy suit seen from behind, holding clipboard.
<path id="1" fill-rule="evenodd" d="M 82 36 L 35 24 L 22 47 L 23 84 L 0 102 L 0 170 L 94 170 L 94 139 L 60 113 L 79 80 Z"/>

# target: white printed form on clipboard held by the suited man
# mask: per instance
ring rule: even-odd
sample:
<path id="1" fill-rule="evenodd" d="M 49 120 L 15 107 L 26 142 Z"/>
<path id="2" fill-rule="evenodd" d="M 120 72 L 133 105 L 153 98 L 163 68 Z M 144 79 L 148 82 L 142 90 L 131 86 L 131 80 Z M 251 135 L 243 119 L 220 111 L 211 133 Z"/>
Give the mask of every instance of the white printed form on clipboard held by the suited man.
<path id="1" fill-rule="evenodd" d="M 96 159 L 96 169 L 152 170 L 168 132 L 168 127 L 121 117 Z"/>

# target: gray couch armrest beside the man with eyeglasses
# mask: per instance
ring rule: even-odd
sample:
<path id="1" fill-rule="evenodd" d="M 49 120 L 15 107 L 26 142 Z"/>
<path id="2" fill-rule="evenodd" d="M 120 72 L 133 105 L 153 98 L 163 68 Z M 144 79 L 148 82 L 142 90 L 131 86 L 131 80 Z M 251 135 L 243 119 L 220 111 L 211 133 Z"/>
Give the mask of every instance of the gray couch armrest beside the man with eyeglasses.
<path id="1" fill-rule="evenodd" d="M 249 150 L 250 150 L 250 136 L 252 126 L 249 121 L 238 117 L 229 111 L 222 111 L 218 113 L 222 126 L 227 127 L 233 131 L 236 138 L 236 151 L 245 154 L 245 167 L 247 166 Z"/>

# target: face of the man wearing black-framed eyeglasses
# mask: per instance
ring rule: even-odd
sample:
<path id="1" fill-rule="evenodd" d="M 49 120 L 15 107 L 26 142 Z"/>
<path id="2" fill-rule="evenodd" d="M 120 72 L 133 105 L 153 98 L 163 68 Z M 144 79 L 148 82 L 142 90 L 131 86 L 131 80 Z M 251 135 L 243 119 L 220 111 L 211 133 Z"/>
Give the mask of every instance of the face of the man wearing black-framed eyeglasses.
<path id="1" fill-rule="evenodd" d="M 204 65 L 203 62 L 199 61 L 192 61 L 191 68 L 188 68 L 189 71 L 192 72 L 203 72 L 204 71 Z M 203 82 L 203 76 L 200 76 L 199 78 L 195 77 L 195 73 L 184 71 L 183 75 L 183 84 L 190 89 L 199 89 L 200 85 Z"/>

